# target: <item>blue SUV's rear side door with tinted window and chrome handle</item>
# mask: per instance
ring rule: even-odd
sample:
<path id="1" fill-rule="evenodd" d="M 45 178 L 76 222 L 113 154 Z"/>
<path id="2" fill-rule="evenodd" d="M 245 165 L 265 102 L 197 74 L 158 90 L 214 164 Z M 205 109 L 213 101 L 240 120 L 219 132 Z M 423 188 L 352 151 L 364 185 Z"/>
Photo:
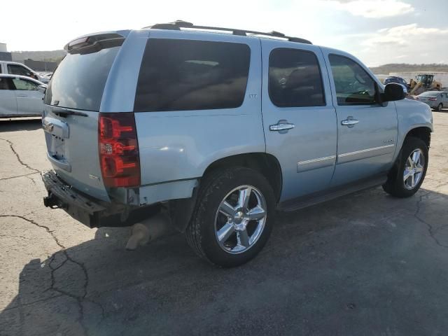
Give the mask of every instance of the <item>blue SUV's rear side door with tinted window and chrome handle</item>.
<path id="1" fill-rule="evenodd" d="M 337 128 L 320 48 L 262 39 L 262 117 L 266 152 L 280 163 L 281 201 L 328 188 Z"/>

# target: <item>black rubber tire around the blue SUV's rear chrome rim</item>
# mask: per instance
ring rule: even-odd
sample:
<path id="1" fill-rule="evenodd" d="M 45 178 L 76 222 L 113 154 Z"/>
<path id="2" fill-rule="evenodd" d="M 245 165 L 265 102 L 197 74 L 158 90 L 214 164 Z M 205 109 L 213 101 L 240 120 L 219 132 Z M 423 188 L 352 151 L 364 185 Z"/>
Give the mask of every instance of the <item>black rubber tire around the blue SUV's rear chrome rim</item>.
<path id="1" fill-rule="evenodd" d="M 215 221 L 218 218 L 218 208 L 221 202 L 232 190 L 239 186 L 256 188 L 257 192 L 264 197 L 267 216 L 265 217 L 264 227 L 253 245 L 246 251 L 232 254 L 218 244 Z M 232 167 L 212 172 L 209 176 L 204 177 L 201 182 L 195 211 L 193 211 L 193 216 L 186 230 L 188 244 L 197 255 L 215 265 L 235 267 L 244 264 L 254 258 L 265 246 L 274 225 L 275 207 L 274 191 L 265 176 L 259 172 L 244 167 Z"/>

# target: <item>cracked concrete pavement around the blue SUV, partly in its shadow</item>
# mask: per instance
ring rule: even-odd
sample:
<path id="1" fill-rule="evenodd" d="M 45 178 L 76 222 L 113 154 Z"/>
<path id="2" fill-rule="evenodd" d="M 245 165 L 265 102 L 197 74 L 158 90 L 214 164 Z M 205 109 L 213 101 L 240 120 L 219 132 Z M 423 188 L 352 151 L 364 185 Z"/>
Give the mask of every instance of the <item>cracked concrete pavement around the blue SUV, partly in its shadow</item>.
<path id="1" fill-rule="evenodd" d="M 419 193 L 381 188 L 278 214 L 258 258 L 217 269 L 182 235 L 125 251 L 43 207 L 39 120 L 0 122 L 0 335 L 444 335 L 448 111 Z"/>

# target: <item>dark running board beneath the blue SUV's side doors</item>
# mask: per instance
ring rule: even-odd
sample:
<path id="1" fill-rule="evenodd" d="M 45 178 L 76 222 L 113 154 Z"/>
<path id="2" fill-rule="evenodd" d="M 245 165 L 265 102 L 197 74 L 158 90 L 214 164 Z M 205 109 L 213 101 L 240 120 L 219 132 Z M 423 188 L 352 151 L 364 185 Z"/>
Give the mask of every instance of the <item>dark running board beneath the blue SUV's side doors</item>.
<path id="1" fill-rule="evenodd" d="M 369 179 L 363 179 L 353 183 L 346 184 L 341 187 L 330 188 L 328 190 L 319 191 L 311 195 L 301 196 L 293 200 L 287 200 L 277 205 L 279 211 L 296 211 L 312 205 L 334 200 L 337 197 L 356 193 L 360 190 L 372 189 L 383 185 L 387 181 L 387 175 L 381 174 Z"/>

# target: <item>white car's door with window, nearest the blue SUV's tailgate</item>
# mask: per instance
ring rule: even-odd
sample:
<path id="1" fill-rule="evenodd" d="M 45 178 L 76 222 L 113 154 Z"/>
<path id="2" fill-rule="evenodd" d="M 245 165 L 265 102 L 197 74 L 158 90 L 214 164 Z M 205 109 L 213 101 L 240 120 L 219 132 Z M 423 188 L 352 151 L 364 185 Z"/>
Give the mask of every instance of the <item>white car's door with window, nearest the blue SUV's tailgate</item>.
<path id="1" fill-rule="evenodd" d="M 41 116 L 43 111 L 43 94 L 38 84 L 24 78 L 12 78 L 17 99 L 17 113 L 20 115 Z"/>

